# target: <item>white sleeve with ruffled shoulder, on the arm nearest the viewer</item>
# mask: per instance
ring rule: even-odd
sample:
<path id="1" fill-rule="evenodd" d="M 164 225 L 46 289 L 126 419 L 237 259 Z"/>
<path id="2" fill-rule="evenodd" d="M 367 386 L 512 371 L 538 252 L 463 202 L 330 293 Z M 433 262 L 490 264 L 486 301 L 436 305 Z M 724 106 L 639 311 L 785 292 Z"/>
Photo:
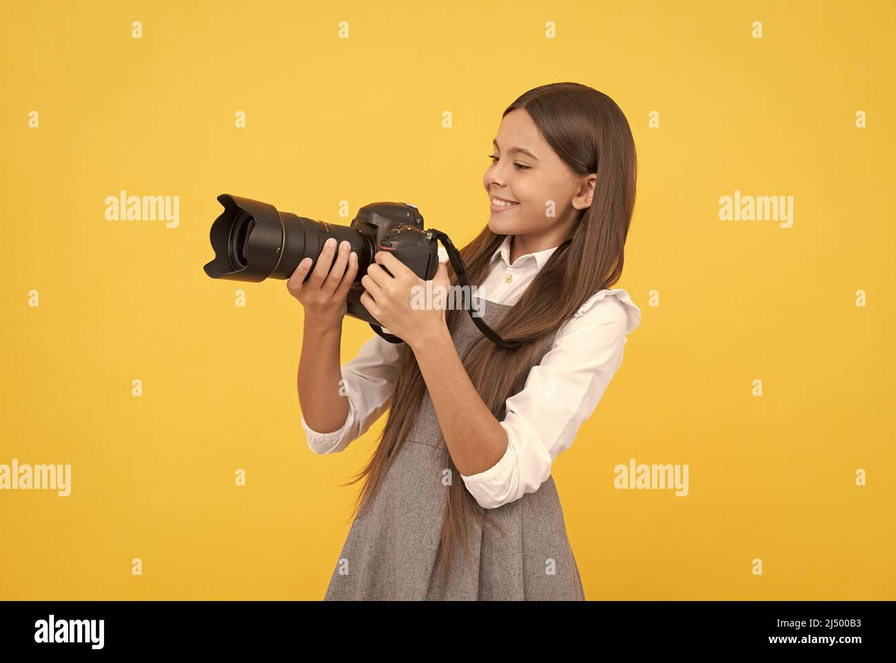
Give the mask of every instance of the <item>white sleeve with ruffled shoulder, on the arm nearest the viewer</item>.
<path id="1" fill-rule="evenodd" d="M 622 363 L 626 335 L 640 320 L 625 290 L 604 290 L 560 328 L 525 386 L 506 401 L 499 421 L 507 434 L 504 456 L 485 472 L 461 474 L 479 506 L 504 506 L 547 480 L 557 455 L 597 408 Z"/>

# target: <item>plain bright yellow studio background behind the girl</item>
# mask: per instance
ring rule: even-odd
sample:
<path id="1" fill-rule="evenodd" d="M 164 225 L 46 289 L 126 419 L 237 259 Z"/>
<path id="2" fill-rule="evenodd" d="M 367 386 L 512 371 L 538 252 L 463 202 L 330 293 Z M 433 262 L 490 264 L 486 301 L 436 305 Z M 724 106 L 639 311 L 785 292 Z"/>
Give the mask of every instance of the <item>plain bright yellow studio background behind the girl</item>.
<path id="1" fill-rule="evenodd" d="M 301 306 L 284 281 L 205 276 L 215 199 L 344 225 L 340 200 L 407 200 L 462 245 L 487 223 L 504 107 L 577 81 L 623 109 L 640 166 L 616 287 L 642 324 L 554 466 L 586 597 L 896 599 L 894 3 L 3 14 L 0 463 L 72 463 L 73 487 L 0 491 L 0 598 L 322 598 L 349 529 L 338 484 L 385 418 L 311 452 Z M 123 189 L 179 196 L 179 227 L 107 221 Z M 793 227 L 720 221 L 736 189 L 794 196 Z M 349 319 L 342 360 L 372 335 Z M 690 495 L 614 489 L 632 457 L 688 463 Z"/>

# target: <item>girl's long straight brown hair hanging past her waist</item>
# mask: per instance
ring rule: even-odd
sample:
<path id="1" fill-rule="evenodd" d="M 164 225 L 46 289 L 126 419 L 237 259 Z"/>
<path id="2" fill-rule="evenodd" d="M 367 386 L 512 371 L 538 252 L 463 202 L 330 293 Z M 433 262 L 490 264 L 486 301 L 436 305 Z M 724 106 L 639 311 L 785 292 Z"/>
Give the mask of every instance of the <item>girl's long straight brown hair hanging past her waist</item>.
<path id="1" fill-rule="evenodd" d="M 609 288 L 622 275 L 637 170 L 634 140 L 625 115 L 604 93 L 580 83 L 551 83 L 521 95 L 502 117 L 517 108 L 529 113 L 544 140 L 575 174 L 596 173 L 598 179 L 590 207 L 582 210 L 567 240 L 551 254 L 520 300 L 491 325 L 504 339 L 521 341 L 521 345 L 516 350 L 504 350 L 480 336 L 461 357 L 470 381 L 497 421 L 504 419 L 505 400 L 525 386 L 537 353 L 553 341 L 557 329 L 591 294 Z M 504 236 L 492 233 L 486 226 L 461 249 L 470 285 L 482 283 L 488 259 Z M 448 273 L 455 285 L 457 275 L 450 263 Z M 461 315 L 470 314 L 457 308 L 445 312 L 452 333 Z M 426 382 L 407 344 L 401 346 L 399 366 L 392 407 L 379 444 L 366 467 L 343 484 L 348 486 L 366 478 L 353 516 L 373 503 L 385 472 L 409 435 L 426 393 Z M 494 370 L 495 366 L 501 370 Z M 486 516 L 486 509 L 477 504 L 463 485 L 447 446 L 444 458 L 452 481 L 446 491 L 442 529 L 443 579 L 451 569 L 459 540 L 469 565 L 466 519 L 473 517 L 482 523 L 497 524 Z"/>

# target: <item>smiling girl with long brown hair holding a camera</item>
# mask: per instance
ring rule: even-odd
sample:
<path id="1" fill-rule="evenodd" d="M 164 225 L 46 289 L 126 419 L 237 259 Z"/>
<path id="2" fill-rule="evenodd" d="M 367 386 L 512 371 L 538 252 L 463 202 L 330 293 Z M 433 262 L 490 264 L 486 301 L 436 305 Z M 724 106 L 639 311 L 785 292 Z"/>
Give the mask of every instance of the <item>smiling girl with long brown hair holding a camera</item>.
<path id="1" fill-rule="evenodd" d="M 518 348 L 482 336 L 469 311 L 412 306 L 426 282 L 379 251 L 361 303 L 406 342 L 374 336 L 340 367 L 356 255 L 331 239 L 307 282 L 311 259 L 289 278 L 305 310 L 298 395 L 312 450 L 342 451 L 389 409 L 349 482 L 366 479 L 325 599 L 584 599 L 550 470 L 641 320 L 610 288 L 634 205 L 632 132 L 607 95 L 554 83 L 504 111 L 489 159 L 488 225 L 461 256 L 483 318 Z M 439 253 L 444 293 L 457 276 Z"/>

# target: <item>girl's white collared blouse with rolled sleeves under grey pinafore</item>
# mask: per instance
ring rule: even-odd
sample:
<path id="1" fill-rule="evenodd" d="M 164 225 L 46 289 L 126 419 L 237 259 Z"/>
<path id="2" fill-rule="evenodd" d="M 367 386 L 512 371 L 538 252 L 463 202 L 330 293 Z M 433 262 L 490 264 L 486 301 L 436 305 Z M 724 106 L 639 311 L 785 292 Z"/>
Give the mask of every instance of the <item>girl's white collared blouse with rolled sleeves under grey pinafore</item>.
<path id="1" fill-rule="evenodd" d="M 495 250 L 479 286 L 479 296 L 488 302 L 516 302 L 556 251 L 554 247 L 527 253 L 511 265 L 511 237 L 506 235 Z M 447 260 L 447 251 L 439 247 L 439 261 Z M 532 367 L 523 389 L 506 401 L 506 415 L 499 422 L 507 432 L 504 456 L 484 472 L 461 474 L 480 506 L 503 506 L 547 480 L 551 463 L 573 444 L 582 422 L 597 408 L 622 363 L 626 335 L 640 323 L 641 309 L 625 290 L 613 288 L 592 294 L 557 330 L 554 344 Z M 349 416 L 341 429 L 317 432 L 308 428 L 302 415 L 308 446 L 315 454 L 342 451 L 386 411 L 398 376 L 400 347 L 374 335 L 361 345 L 355 359 L 342 365 Z"/>

